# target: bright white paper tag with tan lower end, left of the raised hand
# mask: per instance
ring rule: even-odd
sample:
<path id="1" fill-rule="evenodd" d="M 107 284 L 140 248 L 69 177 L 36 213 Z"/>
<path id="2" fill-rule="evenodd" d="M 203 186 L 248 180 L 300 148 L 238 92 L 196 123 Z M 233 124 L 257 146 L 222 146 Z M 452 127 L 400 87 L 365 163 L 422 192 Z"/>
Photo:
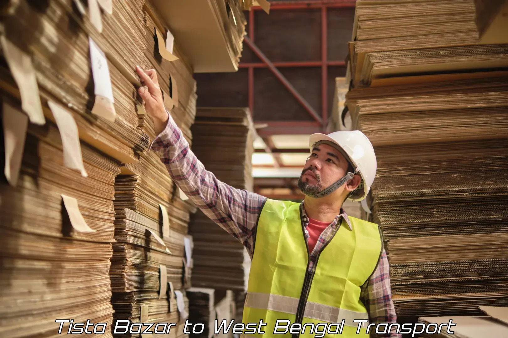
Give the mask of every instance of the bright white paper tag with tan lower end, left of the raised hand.
<path id="1" fill-rule="evenodd" d="M 100 116 L 108 121 L 115 121 L 116 112 L 113 105 L 113 87 L 109 74 L 108 60 L 104 52 L 89 37 L 90 62 L 92 65 L 95 102 L 92 114 Z"/>

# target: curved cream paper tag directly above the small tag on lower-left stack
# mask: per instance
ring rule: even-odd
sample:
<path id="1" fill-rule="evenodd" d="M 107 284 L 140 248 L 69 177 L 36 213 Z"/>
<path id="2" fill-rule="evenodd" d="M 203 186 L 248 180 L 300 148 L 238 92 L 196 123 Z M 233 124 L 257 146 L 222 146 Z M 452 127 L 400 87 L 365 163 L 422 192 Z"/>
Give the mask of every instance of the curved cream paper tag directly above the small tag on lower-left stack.
<path id="1" fill-rule="evenodd" d="M 72 114 L 61 105 L 48 101 L 48 106 L 51 112 L 53 112 L 62 139 L 63 165 L 67 168 L 80 171 L 83 177 L 88 177 L 81 155 L 81 144 L 79 143 L 76 121 L 74 121 Z"/>

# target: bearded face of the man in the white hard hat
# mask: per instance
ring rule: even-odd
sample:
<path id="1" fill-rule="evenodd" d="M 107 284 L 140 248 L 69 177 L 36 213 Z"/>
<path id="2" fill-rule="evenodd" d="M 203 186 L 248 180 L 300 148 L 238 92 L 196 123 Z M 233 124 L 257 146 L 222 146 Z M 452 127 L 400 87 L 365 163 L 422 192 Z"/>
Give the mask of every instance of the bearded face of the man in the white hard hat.
<path id="1" fill-rule="evenodd" d="M 298 187 L 304 194 L 315 195 L 343 177 L 347 168 L 347 160 L 336 148 L 328 144 L 317 145 L 305 162 Z M 337 189 L 338 194 L 343 190 L 343 186 Z"/>

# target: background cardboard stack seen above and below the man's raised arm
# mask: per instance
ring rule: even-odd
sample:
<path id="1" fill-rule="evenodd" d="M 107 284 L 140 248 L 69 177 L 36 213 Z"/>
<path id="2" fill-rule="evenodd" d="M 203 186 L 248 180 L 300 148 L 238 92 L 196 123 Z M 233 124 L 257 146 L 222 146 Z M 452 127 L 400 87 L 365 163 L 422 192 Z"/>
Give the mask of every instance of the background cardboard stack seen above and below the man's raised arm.
<path id="1" fill-rule="evenodd" d="M 193 152 L 218 180 L 252 191 L 253 126 L 247 108 L 198 108 Z M 193 215 L 193 286 L 244 290 L 244 247 L 203 212 Z"/>

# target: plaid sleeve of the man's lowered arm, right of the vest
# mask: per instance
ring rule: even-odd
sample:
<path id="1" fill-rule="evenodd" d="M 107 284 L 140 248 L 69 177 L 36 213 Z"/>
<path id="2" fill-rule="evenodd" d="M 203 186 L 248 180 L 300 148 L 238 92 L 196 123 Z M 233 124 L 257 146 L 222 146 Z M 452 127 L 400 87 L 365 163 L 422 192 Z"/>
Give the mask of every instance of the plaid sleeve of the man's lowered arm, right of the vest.
<path id="1" fill-rule="evenodd" d="M 361 297 L 369 313 L 369 323 L 389 323 L 390 326 L 391 323 L 397 322 L 392 301 L 390 267 L 385 249 L 383 249 L 377 269 L 363 288 Z M 385 330 L 385 327 L 380 326 L 379 330 Z M 369 335 L 370 338 L 401 338 L 402 335 L 396 331 L 397 328 L 392 326 L 391 333 L 376 333 L 375 326 L 371 326 Z"/>

